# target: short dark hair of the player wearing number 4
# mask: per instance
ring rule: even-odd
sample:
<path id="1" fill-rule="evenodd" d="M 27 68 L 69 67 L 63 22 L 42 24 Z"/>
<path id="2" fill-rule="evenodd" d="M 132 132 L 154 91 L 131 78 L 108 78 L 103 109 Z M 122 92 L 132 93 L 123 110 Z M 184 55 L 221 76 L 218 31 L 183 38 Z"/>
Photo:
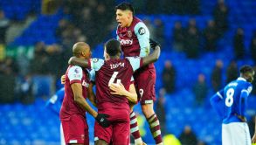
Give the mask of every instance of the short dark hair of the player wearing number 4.
<path id="1" fill-rule="evenodd" d="M 118 40 L 112 38 L 105 44 L 106 52 L 109 56 L 114 57 L 116 54 L 121 52 L 121 44 Z"/>

